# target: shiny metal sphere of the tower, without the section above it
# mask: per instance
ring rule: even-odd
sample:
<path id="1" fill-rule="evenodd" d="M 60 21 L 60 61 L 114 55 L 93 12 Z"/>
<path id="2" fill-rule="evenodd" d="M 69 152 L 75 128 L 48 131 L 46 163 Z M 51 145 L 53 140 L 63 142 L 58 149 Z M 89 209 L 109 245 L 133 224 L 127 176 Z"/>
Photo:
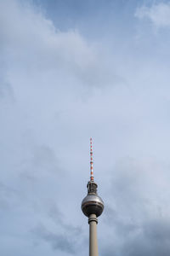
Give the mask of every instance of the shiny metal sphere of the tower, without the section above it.
<path id="1" fill-rule="evenodd" d="M 88 194 L 82 200 L 82 212 L 89 217 L 90 214 L 95 214 L 99 217 L 104 210 L 104 202 L 97 194 Z"/>

